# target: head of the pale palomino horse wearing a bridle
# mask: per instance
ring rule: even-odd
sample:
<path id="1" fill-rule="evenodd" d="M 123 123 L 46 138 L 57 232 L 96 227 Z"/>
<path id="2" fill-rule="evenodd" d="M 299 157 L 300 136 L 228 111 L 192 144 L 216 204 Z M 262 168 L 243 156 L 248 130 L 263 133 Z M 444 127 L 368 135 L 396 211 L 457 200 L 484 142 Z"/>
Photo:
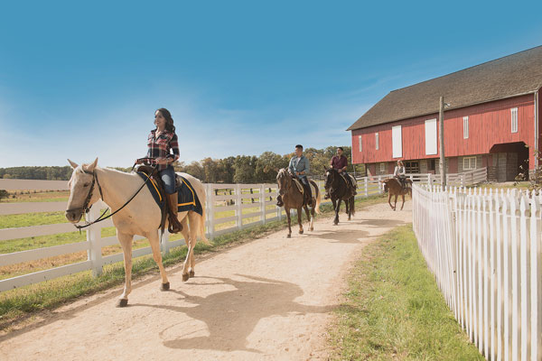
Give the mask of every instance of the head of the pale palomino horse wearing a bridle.
<path id="1" fill-rule="evenodd" d="M 99 192 L 93 191 L 96 188 L 94 170 L 98 164 L 98 158 L 91 164 L 78 165 L 70 160 L 68 162 L 70 162 L 73 172 L 68 182 L 70 199 L 68 199 L 65 215 L 71 223 L 77 223 L 83 216 L 83 212 L 88 212 L 89 208 L 99 199 Z"/>

